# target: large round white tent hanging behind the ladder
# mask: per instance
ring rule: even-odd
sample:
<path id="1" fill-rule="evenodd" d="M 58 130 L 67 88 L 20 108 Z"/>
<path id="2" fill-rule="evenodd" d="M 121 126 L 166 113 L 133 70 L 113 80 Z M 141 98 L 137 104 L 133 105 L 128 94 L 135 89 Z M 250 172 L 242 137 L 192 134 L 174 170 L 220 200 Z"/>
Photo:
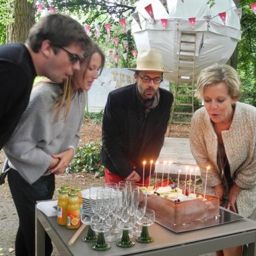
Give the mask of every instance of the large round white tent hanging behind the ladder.
<path id="1" fill-rule="evenodd" d="M 166 79 L 175 81 L 177 76 L 181 32 L 197 32 L 195 76 L 204 67 L 228 61 L 241 40 L 240 20 L 232 0 L 215 0 L 212 8 L 207 5 L 207 0 L 167 0 L 167 3 L 168 12 L 160 0 L 140 0 L 136 11 L 141 27 L 135 20 L 131 27 L 138 51 L 152 48 L 162 52 L 165 69 L 173 71 L 166 74 Z M 155 23 L 145 9 L 150 4 Z M 225 24 L 218 15 L 223 12 L 226 12 Z M 206 22 L 205 16 L 210 16 L 210 21 Z M 189 18 L 195 18 L 194 28 Z M 161 19 L 168 20 L 165 30 Z M 191 71 L 186 75 L 191 75 Z"/>

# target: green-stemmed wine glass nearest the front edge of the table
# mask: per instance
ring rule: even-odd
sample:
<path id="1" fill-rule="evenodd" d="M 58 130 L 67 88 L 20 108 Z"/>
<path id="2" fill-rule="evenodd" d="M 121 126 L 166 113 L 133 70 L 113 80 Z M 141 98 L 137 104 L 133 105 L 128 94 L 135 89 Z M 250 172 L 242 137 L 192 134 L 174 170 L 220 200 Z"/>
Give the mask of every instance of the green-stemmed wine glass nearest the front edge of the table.
<path id="1" fill-rule="evenodd" d="M 102 219 L 99 216 L 92 216 L 91 226 L 92 230 L 98 232 L 98 238 L 95 243 L 92 244 L 92 249 L 96 251 L 106 251 L 110 249 L 111 245 L 106 243 L 104 238 L 104 232 L 107 232 L 110 229 L 110 218 L 107 216 Z"/>

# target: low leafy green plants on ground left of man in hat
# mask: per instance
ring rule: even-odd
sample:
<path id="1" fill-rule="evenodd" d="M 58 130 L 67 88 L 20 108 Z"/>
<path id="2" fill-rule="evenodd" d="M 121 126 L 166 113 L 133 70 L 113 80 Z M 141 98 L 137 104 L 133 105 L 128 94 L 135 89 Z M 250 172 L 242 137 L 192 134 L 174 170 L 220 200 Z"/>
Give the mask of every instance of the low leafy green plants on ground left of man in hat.
<path id="1" fill-rule="evenodd" d="M 75 158 L 69 164 L 67 172 L 80 172 L 86 170 L 88 172 L 100 172 L 103 174 L 104 167 L 101 165 L 100 150 L 101 142 L 86 143 L 83 147 L 77 148 Z"/>

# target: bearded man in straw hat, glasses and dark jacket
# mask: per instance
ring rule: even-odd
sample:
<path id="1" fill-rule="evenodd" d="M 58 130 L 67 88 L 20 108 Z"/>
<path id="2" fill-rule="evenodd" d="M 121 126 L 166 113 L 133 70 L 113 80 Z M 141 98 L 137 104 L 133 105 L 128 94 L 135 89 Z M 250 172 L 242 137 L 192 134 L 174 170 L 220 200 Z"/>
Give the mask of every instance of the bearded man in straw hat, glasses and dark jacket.
<path id="1" fill-rule="evenodd" d="M 102 164 L 106 183 L 126 180 L 148 185 L 150 161 L 156 162 L 160 154 L 170 117 L 173 96 L 159 88 L 163 73 L 170 71 L 164 70 L 162 55 L 155 49 L 139 51 L 136 69 L 129 70 L 135 71 L 135 84 L 108 94 Z"/>

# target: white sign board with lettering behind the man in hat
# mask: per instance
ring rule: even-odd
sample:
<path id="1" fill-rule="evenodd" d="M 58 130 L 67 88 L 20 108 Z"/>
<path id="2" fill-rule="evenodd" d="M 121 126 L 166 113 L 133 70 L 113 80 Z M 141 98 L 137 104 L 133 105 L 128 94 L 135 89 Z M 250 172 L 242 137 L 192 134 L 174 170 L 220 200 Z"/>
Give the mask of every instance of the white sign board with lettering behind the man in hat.
<path id="1" fill-rule="evenodd" d="M 133 71 L 125 68 L 103 69 L 100 77 L 94 81 L 88 91 L 87 111 L 98 113 L 104 109 L 108 93 L 117 88 L 133 84 L 133 75 Z M 169 90 L 169 81 L 164 79 L 160 87 Z"/>

